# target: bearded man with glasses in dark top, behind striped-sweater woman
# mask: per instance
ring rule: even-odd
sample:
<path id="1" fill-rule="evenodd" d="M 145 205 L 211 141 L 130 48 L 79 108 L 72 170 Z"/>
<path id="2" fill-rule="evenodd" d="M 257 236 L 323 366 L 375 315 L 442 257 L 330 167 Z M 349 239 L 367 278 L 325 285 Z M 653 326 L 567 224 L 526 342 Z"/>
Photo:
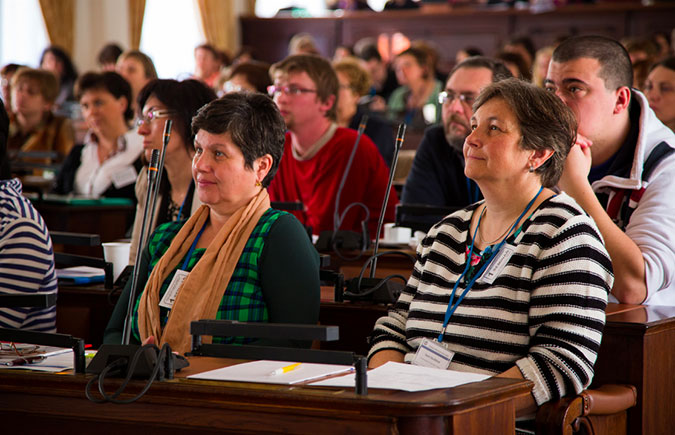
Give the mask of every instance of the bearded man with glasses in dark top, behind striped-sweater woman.
<path id="1" fill-rule="evenodd" d="M 424 132 L 403 187 L 404 204 L 465 207 L 481 198 L 464 175 L 464 139 L 471 133 L 471 108 L 487 85 L 512 77 L 499 61 L 474 56 L 455 66 L 439 95 L 442 125 Z"/>

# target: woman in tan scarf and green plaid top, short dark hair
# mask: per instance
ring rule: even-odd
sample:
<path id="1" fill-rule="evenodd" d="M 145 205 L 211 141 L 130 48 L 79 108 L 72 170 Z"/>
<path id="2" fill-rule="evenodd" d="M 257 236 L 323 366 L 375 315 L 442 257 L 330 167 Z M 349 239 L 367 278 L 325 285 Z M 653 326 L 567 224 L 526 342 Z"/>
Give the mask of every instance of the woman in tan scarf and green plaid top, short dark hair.
<path id="1" fill-rule="evenodd" d="M 200 109 L 192 130 L 192 175 L 204 205 L 187 222 L 160 225 L 150 237 L 132 342 L 169 343 L 182 353 L 194 320 L 316 323 L 318 254 L 297 219 L 270 208 L 266 190 L 286 130 L 274 102 L 261 94 L 228 94 Z M 115 307 L 105 343 L 121 341 L 129 290 Z"/>

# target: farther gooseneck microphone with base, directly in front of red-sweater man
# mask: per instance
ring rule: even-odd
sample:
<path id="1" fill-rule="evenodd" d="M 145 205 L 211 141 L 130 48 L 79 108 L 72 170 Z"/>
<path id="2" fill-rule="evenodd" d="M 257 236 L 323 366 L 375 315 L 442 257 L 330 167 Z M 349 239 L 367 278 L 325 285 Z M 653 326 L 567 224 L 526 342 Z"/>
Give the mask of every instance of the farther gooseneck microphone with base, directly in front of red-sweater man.
<path id="1" fill-rule="evenodd" d="M 349 171 L 352 167 L 352 164 L 354 163 L 354 157 L 356 156 L 356 150 L 359 147 L 359 143 L 361 142 L 361 137 L 363 136 L 363 132 L 366 129 L 366 125 L 368 123 L 368 115 L 363 115 L 361 117 L 361 121 L 359 122 L 359 128 L 357 130 L 357 135 L 356 135 L 356 141 L 354 141 L 354 146 L 352 147 L 352 152 L 349 155 L 349 159 L 347 160 L 347 165 L 345 166 L 345 170 L 342 174 L 342 179 L 340 180 L 340 184 L 338 186 L 337 193 L 335 194 L 335 208 L 333 211 L 333 231 L 322 231 L 321 234 L 319 234 L 319 240 L 316 242 L 316 249 L 319 251 L 327 251 L 329 249 L 333 249 L 335 253 L 338 255 L 338 257 L 344 259 L 344 260 L 349 260 L 348 258 L 345 258 L 340 254 L 338 248 L 346 249 L 346 250 L 356 250 L 356 249 L 361 249 L 361 251 L 364 251 L 368 248 L 368 243 L 369 243 L 369 237 L 368 237 L 368 220 L 370 219 L 370 211 L 368 208 L 361 204 L 361 203 L 352 203 L 349 204 L 342 214 L 340 214 L 339 207 L 340 207 L 340 198 L 342 197 L 342 190 L 345 187 L 345 184 L 347 183 L 347 177 L 349 176 Z M 354 206 L 360 206 L 365 210 L 366 217 L 365 219 L 361 222 L 361 234 L 355 233 L 354 231 L 339 231 L 340 226 L 342 225 L 342 221 L 344 220 L 345 216 L 347 215 L 347 212 Z M 355 257 L 354 259 L 360 257 L 360 254 Z"/>

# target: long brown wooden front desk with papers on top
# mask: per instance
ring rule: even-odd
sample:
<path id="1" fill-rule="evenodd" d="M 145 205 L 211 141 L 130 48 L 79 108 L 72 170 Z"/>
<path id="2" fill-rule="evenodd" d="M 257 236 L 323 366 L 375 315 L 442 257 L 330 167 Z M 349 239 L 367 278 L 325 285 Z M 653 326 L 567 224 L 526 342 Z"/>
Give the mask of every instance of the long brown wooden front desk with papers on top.
<path id="1" fill-rule="evenodd" d="M 191 372 L 213 368 L 208 360 L 191 359 Z M 200 365 L 203 370 L 197 369 Z M 351 389 L 176 378 L 153 384 L 136 403 L 119 406 L 88 401 L 87 380 L 86 375 L 0 370 L 3 431 L 502 434 L 514 432 L 514 399 L 531 387 L 528 381 L 491 378 L 450 389 L 371 389 L 357 396 Z M 110 384 L 112 390 L 119 380 Z M 132 382 L 130 391 L 142 384 Z"/>

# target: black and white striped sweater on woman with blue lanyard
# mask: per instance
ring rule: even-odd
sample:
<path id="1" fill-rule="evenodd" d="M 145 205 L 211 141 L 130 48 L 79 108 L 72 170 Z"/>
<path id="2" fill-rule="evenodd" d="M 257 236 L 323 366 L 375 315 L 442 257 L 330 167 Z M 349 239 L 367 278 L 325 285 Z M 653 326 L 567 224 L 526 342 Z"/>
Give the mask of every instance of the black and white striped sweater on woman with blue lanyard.
<path id="1" fill-rule="evenodd" d="M 412 360 L 423 338 L 436 339 L 450 294 L 464 270 L 478 204 L 436 224 L 389 315 L 371 336 L 374 353 Z M 593 220 L 566 194 L 544 201 L 508 243 L 515 252 L 493 284 L 474 284 L 450 319 L 443 342 L 451 370 L 498 374 L 518 366 L 534 382 L 538 405 L 580 392 L 593 377 L 614 277 Z M 466 287 L 464 280 L 457 297 Z"/>

